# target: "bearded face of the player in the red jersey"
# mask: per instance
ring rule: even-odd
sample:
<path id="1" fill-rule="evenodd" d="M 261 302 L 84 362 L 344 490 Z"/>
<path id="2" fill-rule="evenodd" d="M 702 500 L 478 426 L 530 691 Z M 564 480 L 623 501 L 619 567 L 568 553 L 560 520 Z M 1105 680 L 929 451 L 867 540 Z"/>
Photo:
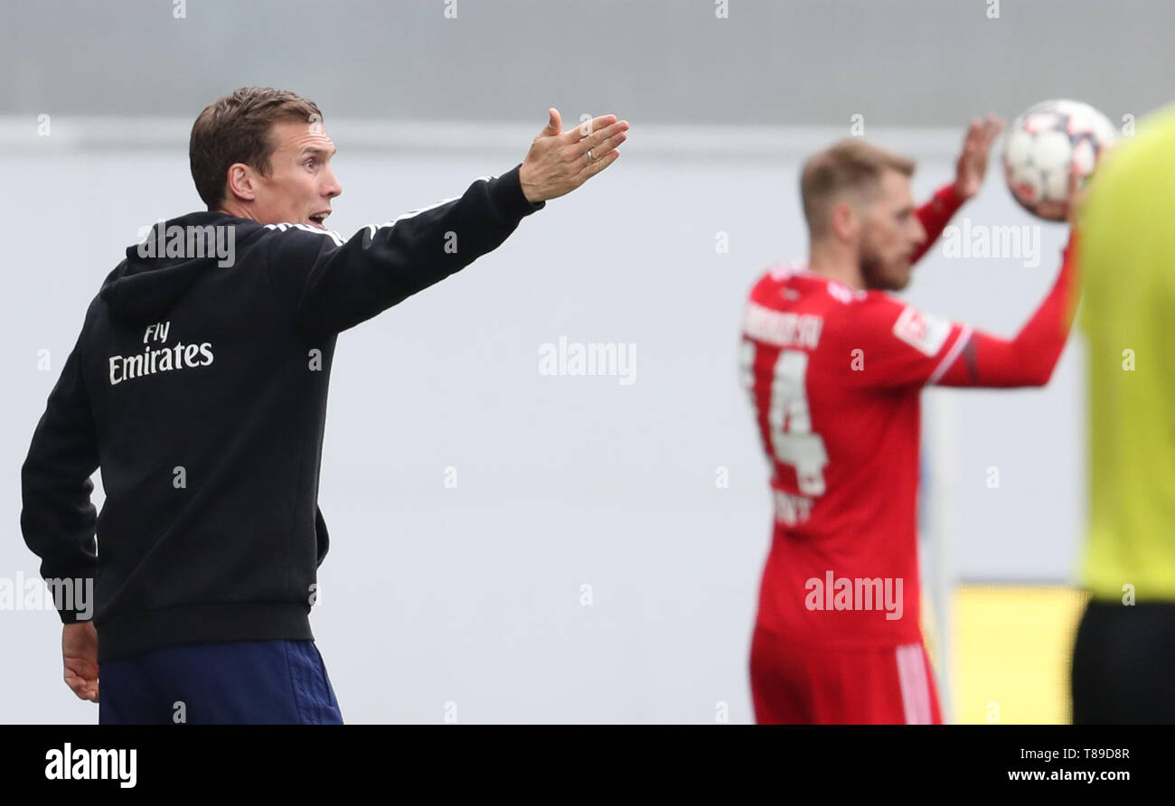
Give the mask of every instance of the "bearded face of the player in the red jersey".
<path id="1" fill-rule="evenodd" d="M 867 288 L 898 291 L 909 283 L 914 253 L 926 240 L 926 230 L 914 211 L 905 174 L 886 170 L 872 202 L 861 208 L 861 276 Z"/>

